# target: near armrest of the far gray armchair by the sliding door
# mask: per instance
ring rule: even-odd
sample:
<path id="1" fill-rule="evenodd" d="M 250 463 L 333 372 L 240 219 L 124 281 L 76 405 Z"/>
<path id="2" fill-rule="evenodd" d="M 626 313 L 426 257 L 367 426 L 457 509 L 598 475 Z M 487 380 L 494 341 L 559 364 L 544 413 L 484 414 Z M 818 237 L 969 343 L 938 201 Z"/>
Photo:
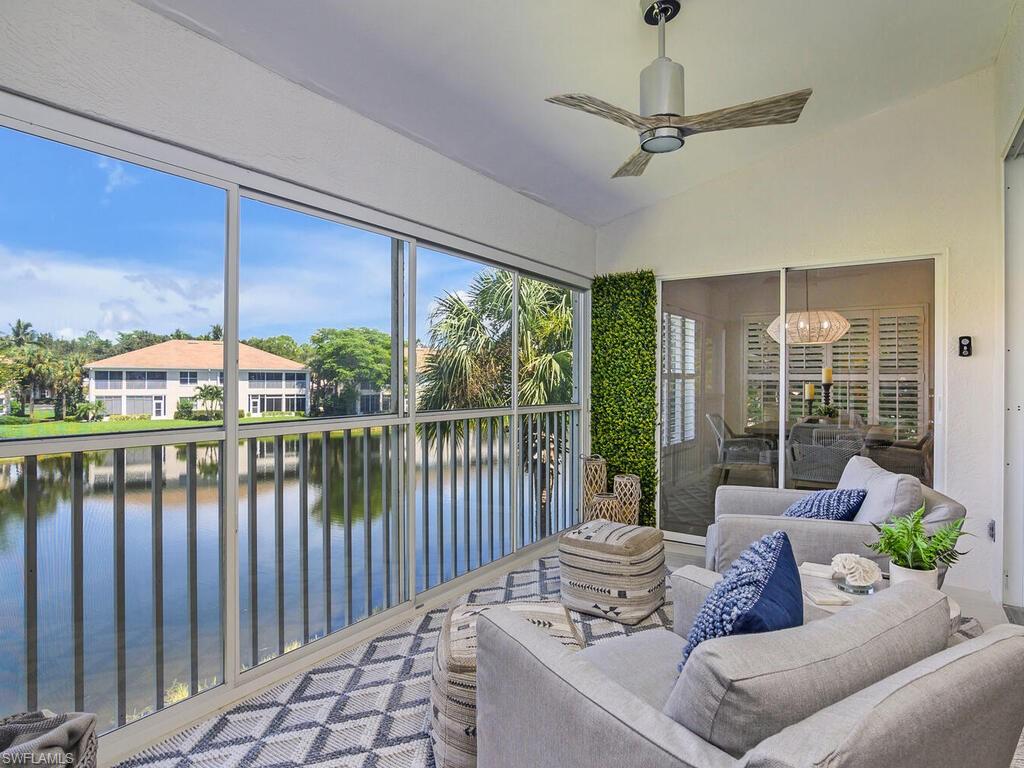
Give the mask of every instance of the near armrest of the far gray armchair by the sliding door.
<path id="1" fill-rule="evenodd" d="M 811 520 L 803 517 L 765 517 L 764 515 L 723 515 L 715 524 L 715 569 L 723 571 L 761 537 L 773 530 L 790 536 L 797 564 L 829 563 L 841 552 L 852 552 L 889 568 L 889 558 L 879 555 L 867 544 L 879 539 L 868 523 L 839 520 Z M 709 554 L 709 560 L 712 560 Z"/>

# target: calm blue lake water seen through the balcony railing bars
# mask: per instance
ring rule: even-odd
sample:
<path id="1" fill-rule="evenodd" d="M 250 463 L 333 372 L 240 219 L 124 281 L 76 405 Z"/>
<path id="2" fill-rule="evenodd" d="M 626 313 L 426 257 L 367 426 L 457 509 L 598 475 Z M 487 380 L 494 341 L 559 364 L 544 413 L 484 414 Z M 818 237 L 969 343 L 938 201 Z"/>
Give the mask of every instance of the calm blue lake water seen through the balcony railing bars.
<path id="1" fill-rule="evenodd" d="M 395 456 L 400 445 L 397 428 L 391 438 L 374 430 L 364 435 L 351 430 L 346 440 L 342 432 L 332 434 L 328 453 L 330 499 L 328 504 L 332 552 L 332 629 L 338 630 L 384 609 L 388 602 L 385 582 L 387 552 L 398 551 L 399 505 L 395 504 L 395 482 L 391 471 L 382 466 Z M 441 555 L 444 579 L 475 568 L 511 549 L 511 477 L 509 437 L 496 429 L 494 449 L 484 429 L 480 453 L 476 453 L 475 429 L 469 440 L 468 475 L 460 447 L 453 478 L 451 454 L 443 452 L 442 482 L 438 496 L 437 457 L 431 447 L 423 464 L 417 449 L 416 536 L 417 589 L 425 588 L 429 561 L 429 586 L 439 580 Z M 324 499 L 323 451 L 319 433 L 308 438 L 307 513 L 308 525 L 308 612 L 310 638 L 325 634 L 324 610 Z M 261 438 L 256 447 L 258 582 L 258 657 L 273 657 L 279 648 L 276 594 L 276 531 L 274 526 L 274 451 L 284 449 L 283 542 L 284 542 L 284 644 L 297 647 L 303 640 L 300 566 L 300 472 L 299 440 Z M 490 460 L 490 452 L 495 460 Z M 168 445 L 163 454 L 163 600 L 165 688 L 187 684 L 189 679 L 189 633 L 186 537 L 186 449 Z M 399 454 L 403 453 L 399 451 Z M 504 477 L 499 454 L 505 458 Z M 366 454 L 366 464 L 364 463 Z M 221 523 L 219 512 L 219 445 L 197 446 L 197 582 L 200 687 L 223 678 L 221 626 Z M 99 716 L 101 731 L 116 724 L 116 633 L 114 591 L 113 452 L 85 455 L 84 499 L 84 658 L 85 709 Z M 240 449 L 239 482 L 239 587 L 240 644 L 244 667 L 252 666 L 249 595 L 249 451 Z M 74 646 L 72 621 L 72 513 L 70 456 L 40 457 L 38 462 L 38 637 L 39 705 L 61 711 L 74 709 Z M 477 466 L 480 467 L 479 482 Z M 399 464 L 399 467 L 403 465 Z M 128 719 L 153 710 L 156 698 L 153 579 L 153 513 L 151 449 L 126 450 L 125 462 L 125 572 L 126 572 L 126 669 Z M 24 464 L 0 463 L 0 715 L 25 709 L 25 601 L 24 601 Z M 468 478 L 468 482 L 467 482 Z M 424 481 L 429 480 L 424 498 Z M 347 481 L 347 489 L 346 489 Z M 565 483 L 554 492 L 563 493 Z M 479 489 L 478 489 L 479 488 Z M 346 542 L 345 498 L 349 499 Z M 479 494 L 479 496 L 478 496 Z M 469 504 L 467 507 L 466 500 Z M 453 500 L 455 509 L 453 510 Z M 368 505 L 369 502 L 369 505 Z M 386 505 L 385 505 L 386 502 Z M 554 502 L 556 506 L 558 502 Z M 569 508 L 570 500 L 565 500 Z M 386 509 L 385 509 L 386 506 Z M 369 507 L 369 514 L 368 514 Z M 468 509 L 468 514 L 467 514 Z M 439 512 L 443 510 L 443 515 Z M 477 511 L 479 510 L 479 514 Z M 453 512 L 456 525 L 453 541 Z M 424 513 L 429 537 L 424 548 Z M 385 514 L 389 515 L 385 524 Z M 442 519 L 443 517 L 443 519 Z M 494 522 L 492 523 L 492 518 Z M 478 524 L 479 519 L 479 524 Z M 443 541 L 438 532 L 443 523 Z M 367 559 L 369 525 L 370 558 Z M 527 526 L 528 527 L 528 526 Z M 385 541 L 385 529 L 389 532 Z M 527 529 L 525 542 L 536 539 Z M 493 546 L 493 550 L 492 550 Z M 351 557 L 351 581 L 345 562 Z M 479 552 L 479 555 L 478 555 Z M 391 604 L 398 600 L 398 564 L 390 558 Z M 367 567 L 369 562 L 370 567 Z M 368 573 L 370 590 L 368 600 Z M 348 590 L 351 589 L 351 612 Z M 369 603 L 369 604 L 368 604 Z M 180 688 L 180 685 L 178 685 Z M 174 692 L 169 690 L 168 696 Z"/>

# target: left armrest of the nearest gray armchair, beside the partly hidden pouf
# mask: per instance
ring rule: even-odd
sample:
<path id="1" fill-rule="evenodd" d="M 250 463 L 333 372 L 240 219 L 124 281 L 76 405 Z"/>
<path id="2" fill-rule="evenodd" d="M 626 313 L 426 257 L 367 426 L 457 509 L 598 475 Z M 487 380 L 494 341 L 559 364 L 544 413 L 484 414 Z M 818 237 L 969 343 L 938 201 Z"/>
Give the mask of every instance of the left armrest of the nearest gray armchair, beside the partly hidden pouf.
<path id="1" fill-rule="evenodd" d="M 481 768 L 726 768 L 735 761 L 496 607 L 477 620 Z"/>

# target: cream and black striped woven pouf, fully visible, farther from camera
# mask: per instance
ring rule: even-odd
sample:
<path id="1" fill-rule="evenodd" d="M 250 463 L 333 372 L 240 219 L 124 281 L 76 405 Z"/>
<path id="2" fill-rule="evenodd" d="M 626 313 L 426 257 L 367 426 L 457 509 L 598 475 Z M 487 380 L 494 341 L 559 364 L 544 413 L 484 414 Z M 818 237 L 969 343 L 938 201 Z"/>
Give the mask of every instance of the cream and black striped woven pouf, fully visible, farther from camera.
<path id="1" fill-rule="evenodd" d="M 591 520 L 558 540 L 562 604 L 581 613 L 637 624 L 665 602 L 662 531 Z"/>

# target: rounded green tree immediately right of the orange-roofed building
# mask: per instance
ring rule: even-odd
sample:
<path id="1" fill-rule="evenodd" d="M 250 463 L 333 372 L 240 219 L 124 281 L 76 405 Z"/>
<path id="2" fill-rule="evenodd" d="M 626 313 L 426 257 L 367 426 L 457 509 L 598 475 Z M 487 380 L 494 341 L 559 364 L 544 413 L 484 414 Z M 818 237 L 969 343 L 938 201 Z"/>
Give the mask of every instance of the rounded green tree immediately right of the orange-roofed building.
<path id="1" fill-rule="evenodd" d="M 360 387 L 383 389 L 391 380 L 391 336 L 371 328 L 322 328 L 309 339 L 314 409 L 351 413 Z"/>

